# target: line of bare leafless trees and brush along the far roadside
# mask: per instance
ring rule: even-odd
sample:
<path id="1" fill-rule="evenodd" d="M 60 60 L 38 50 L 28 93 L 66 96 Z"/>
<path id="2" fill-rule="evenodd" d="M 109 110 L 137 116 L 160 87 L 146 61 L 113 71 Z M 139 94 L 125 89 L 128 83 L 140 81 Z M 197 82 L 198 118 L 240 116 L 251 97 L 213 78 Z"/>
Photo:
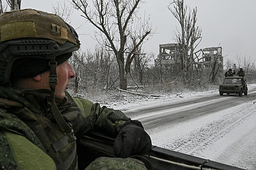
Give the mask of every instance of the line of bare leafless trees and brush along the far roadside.
<path id="1" fill-rule="evenodd" d="M 154 90 L 171 91 L 174 88 L 201 88 L 218 84 L 223 76 L 218 60 L 210 68 L 195 69 L 195 49 L 200 43 L 202 29 L 197 26 L 197 7 L 191 9 L 184 0 L 173 0 L 168 5 L 179 23 L 174 40 L 179 45 L 180 71 L 162 68 L 156 54 L 143 50 L 143 44 L 155 30 L 150 17 L 138 17 L 142 0 L 65 0 L 53 6 L 55 14 L 66 22 L 72 10 L 95 27 L 98 46 L 94 51 L 74 52 L 70 62 L 76 71 L 75 90 L 93 88 L 110 90 L 135 85 L 152 87 Z M 0 0 L 0 13 L 20 9 L 21 0 Z M 157 44 L 156 44 L 157 45 Z M 249 81 L 255 80 L 255 65 L 252 59 L 236 56 L 237 64 L 227 60 L 226 68 L 243 67 Z M 178 86 L 177 86 L 178 84 Z"/>

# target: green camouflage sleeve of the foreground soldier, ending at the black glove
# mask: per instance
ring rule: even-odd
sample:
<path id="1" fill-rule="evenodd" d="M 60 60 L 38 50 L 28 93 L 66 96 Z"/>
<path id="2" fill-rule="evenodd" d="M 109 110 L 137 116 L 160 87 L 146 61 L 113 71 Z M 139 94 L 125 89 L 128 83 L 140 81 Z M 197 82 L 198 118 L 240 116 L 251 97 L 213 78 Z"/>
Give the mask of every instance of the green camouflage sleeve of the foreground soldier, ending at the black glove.
<path id="1" fill-rule="evenodd" d="M 70 101 L 70 99 L 69 99 Z M 89 131 L 97 130 L 111 136 L 117 136 L 120 127 L 130 118 L 126 117 L 123 112 L 100 107 L 98 103 L 92 103 L 86 99 L 73 98 L 71 106 L 77 106 L 81 109 L 82 123 L 80 123 L 80 130 L 76 136 L 82 136 Z M 81 127 L 82 126 L 82 127 Z"/>

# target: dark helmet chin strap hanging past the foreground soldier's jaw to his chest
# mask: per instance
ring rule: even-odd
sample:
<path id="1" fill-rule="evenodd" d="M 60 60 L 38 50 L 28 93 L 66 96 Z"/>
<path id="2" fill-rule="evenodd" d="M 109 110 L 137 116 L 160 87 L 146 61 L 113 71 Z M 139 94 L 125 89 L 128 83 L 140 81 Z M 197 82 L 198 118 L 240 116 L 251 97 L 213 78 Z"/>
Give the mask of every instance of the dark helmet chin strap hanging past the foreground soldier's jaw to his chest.
<path id="1" fill-rule="evenodd" d="M 54 118 L 56 119 L 57 124 L 59 125 L 59 128 L 61 129 L 62 132 L 65 132 L 65 136 L 63 136 L 58 141 L 52 144 L 55 152 L 58 152 L 60 149 L 64 148 L 67 143 L 71 143 L 74 140 L 77 140 L 77 138 L 74 135 L 74 130 L 67 124 L 65 119 L 62 117 L 61 113 L 59 112 L 58 106 L 55 102 L 54 93 L 57 85 L 57 73 L 56 73 L 57 62 L 55 58 L 50 59 L 49 65 L 50 65 L 49 85 L 52 92 L 51 110 Z"/>

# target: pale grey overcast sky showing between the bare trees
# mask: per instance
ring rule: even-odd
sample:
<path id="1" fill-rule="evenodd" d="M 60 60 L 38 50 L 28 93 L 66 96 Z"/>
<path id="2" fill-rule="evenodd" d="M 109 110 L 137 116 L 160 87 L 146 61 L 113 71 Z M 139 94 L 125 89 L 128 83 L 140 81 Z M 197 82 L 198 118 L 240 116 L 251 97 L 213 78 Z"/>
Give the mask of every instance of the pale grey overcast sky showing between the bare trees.
<path id="1" fill-rule="evenodd" d="M 60 0 L 62 1 L 62 0 Z M 145 43 L 145 51 L 158 55 L 159 44 L 175 43 L 174 31 L 180 28 L 168 9 L 171 0 L 146 0 L 140 11 L 150 15 L 156 34 Z M 202 41 L 197 47 L 222 47 L 222 55 L 235 59 L 236 54 L 256 60 L 256 0 L 184 0 L 192 9 L 197 6 L 197 25 L 202 29 Z M 52 13 L 55 0 L 21 0 L 21 8 L 34 8 Z M 94 49 L 96 42 L 90 23 L 85 23 L 74 11 L 71 25 L 77 29 L 82 50 Z M 224 59 L 225 64 L 225 59 Z"/>

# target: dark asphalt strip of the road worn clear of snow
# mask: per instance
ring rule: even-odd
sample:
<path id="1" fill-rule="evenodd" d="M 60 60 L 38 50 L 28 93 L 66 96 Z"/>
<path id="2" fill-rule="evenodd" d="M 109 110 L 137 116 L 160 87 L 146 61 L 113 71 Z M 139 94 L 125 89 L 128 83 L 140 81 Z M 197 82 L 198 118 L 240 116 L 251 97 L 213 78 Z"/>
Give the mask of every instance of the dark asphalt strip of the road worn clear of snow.
<path id="1" fill-rule="evenodd" d="M 248 91 L 247 96 L 208 94 L 191 98 L 177 98 L 165 104 L 143 107 L 136 111 L 127 111 L 125 115 L 140 120 L 147 130 L 158 126 L 169 127 L 189 119 L 197 119 L 243 102 L 256 101 L 256 88 Z"/>

